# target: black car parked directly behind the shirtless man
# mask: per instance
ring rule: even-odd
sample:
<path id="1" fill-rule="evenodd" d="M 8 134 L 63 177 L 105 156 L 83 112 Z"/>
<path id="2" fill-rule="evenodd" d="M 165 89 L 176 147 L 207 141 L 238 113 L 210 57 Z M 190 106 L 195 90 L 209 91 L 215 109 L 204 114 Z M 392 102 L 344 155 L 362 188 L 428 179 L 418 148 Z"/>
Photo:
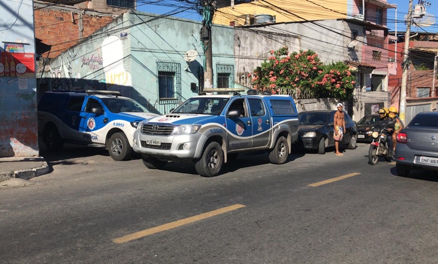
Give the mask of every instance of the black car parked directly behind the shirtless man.
<path id="1" fill-rule="evenodd" d="M 298 146 L 308 150 L 318 150 L 319 154 L 325 153 L 325 148 L 335 146 L 333 139 L 333 117 L 336 110 L 305 111 L 298 113 L 299 131 Z M 358 131 L 356 122 L 344 112 L 345 130 L 340 145 L 346 145 L 349 149 L 356 148 Z"/>

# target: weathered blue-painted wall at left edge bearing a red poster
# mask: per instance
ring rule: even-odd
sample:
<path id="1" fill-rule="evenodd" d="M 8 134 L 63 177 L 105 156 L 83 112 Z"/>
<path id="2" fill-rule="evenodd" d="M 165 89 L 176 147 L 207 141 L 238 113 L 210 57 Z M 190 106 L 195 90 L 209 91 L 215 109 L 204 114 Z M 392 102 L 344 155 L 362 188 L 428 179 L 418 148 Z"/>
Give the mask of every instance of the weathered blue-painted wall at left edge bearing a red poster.
<path id="1" fill-rule="evenodd" d="M 0 157 L 39 155 L 32 0 L 0 5 Z"/>

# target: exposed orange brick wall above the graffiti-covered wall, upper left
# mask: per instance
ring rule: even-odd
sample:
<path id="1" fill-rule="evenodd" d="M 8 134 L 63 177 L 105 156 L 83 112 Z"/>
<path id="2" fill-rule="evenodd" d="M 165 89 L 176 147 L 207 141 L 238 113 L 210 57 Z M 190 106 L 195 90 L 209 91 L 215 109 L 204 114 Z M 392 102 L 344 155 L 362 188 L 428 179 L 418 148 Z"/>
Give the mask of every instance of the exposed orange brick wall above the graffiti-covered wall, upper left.
<path id="1" fill-rule="evenodd" d="M 108 15 L 79 14 L 56 8 L 38 9 L 35 10 L 35 37 L 51 45 L 49 58 L 54 58 L 113 20 L 114 17 Z M 47 53 L 41 55 L 47 57 Z"/>

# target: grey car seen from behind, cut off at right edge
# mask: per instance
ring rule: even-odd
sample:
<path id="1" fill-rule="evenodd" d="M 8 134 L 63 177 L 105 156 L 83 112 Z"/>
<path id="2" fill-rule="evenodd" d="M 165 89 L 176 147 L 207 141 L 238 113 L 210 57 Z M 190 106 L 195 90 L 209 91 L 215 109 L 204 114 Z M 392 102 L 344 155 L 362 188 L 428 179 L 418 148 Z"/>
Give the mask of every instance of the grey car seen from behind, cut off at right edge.
<path id="1" fill-rule="evenodd" d="M 395 152 L 399 176 L 413 168 L 438 170 L 438 112 L 418 113 L 397 135 Z"/>

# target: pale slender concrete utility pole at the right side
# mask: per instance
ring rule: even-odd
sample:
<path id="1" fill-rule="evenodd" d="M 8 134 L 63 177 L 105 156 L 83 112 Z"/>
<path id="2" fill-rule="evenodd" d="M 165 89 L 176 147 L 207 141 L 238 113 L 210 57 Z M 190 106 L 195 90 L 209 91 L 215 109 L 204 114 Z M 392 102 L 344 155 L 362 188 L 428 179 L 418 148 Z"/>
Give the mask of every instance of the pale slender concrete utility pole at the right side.
<path id="1" fill-rule="evenodd" d="M 401 87 L 400 87 L 400 120 L 405 125 L 406 120 L 406 84 L 407 84 L 407 68 L 409 67 L 409 36 L 410 25 L 412 24 L 412 1 L 409 0 L 409 8 L 407 10 L 407 24 L 406 33 L 404 34 L 404 48 L 403 48 L 403 63 L 401 74 Z"/>

